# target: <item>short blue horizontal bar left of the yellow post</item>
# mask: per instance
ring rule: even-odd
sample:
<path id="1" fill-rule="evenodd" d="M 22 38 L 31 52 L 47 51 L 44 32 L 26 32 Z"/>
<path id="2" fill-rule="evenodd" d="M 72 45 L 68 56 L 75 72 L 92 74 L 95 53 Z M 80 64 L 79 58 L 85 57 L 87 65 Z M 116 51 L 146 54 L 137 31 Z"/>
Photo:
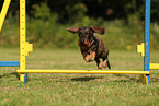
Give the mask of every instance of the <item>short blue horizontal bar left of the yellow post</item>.
<path id="1" fill-rule="evenodd" d="M 0 67 L 20 67 L 20 61 L 0 61 Z"/>

